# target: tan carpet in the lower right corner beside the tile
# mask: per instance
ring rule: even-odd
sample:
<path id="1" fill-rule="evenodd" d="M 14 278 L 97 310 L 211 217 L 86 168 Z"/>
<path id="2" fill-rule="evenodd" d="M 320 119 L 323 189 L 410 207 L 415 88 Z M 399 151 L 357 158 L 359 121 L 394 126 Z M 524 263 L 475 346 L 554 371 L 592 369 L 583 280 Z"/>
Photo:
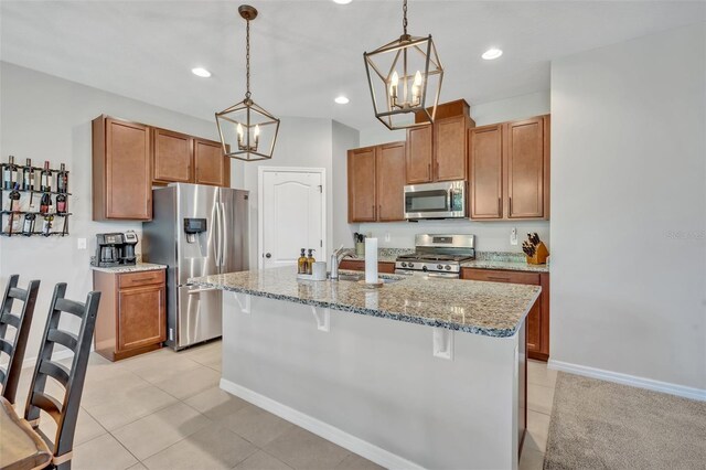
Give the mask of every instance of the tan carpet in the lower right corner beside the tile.
<path id="1" fill-rule="evenodd" d="M 706 402 L 559 372 L 544 468 L 706 469 Z"/>

